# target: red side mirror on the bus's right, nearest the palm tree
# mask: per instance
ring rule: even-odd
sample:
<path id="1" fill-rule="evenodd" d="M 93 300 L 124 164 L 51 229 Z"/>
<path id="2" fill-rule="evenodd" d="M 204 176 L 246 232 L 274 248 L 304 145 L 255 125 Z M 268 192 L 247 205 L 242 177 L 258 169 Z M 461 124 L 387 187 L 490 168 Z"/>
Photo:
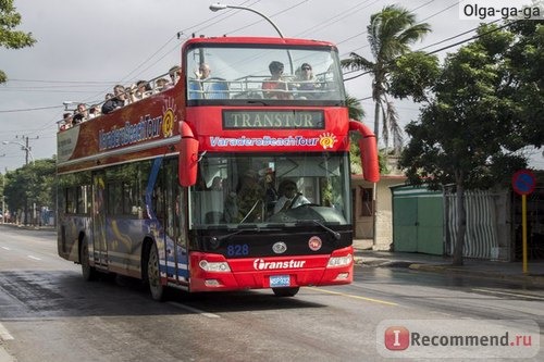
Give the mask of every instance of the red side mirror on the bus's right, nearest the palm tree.
<path id="1" fill-rule="evenodd" d="M 349 120 L 349 130 L 359 132 L 362 138 L 359 140 L 361 150 L 361 165 L 364 179 L 371 183 L 380 180 L 380 165 L 378 162 L 378 145 L 375 135 L 361 122 Z"/>

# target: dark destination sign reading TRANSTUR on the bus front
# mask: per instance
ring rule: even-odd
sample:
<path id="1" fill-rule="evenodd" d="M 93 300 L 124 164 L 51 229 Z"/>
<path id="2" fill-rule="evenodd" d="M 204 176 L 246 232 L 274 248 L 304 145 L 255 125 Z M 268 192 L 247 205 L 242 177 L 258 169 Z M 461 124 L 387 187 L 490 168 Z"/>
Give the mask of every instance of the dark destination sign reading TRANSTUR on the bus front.
<path id="1" fill-rule="evenodd" d="M 307 128 L 324 129 L 323 111 L 251 111 L 224 110 L 224 129 Z"/>

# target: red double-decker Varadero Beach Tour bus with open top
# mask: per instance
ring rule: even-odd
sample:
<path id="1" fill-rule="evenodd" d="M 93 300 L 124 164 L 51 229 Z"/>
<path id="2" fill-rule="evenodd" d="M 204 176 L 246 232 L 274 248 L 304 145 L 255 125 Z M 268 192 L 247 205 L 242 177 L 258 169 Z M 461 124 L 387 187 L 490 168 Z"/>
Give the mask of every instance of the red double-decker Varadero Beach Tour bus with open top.
<path id="1" fill-rule="evenodd" d="M 349 120 L 334 45 L 193 38 L 178 80 L 151 92 L 59 130 L 60 257 L 156 300 L 353 282 L 349 133 L 373 183 L 378 154 Z"/>

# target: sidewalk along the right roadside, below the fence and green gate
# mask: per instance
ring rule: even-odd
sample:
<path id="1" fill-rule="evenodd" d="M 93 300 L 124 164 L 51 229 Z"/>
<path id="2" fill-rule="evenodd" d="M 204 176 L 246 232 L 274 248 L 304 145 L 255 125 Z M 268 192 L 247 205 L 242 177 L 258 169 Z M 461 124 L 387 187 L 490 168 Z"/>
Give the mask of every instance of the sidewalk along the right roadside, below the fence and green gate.
<path id="1" fill-rule="evenodd" d="M 409 267 L 423 272 L 486 277 L 529 286 L 544 287 L 544 260 L 530 260 L 528 274 L 521 262 L 465 259 L 461 266 L 453 266 L 450 257 L 411 252 L 368 250 L 367 240 L 354 240 L 357 264 L 373 267 Z"/>

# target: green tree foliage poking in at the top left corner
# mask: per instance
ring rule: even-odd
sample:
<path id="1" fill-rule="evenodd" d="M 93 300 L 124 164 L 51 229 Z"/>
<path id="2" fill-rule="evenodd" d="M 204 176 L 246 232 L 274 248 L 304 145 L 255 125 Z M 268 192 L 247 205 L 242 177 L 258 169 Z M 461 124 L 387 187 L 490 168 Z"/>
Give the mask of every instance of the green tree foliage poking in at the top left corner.
<path id="1" fill-rule="evenodd" d="M 36 42 L 32 33 L 15 30 L 18 24 L 21 14 L 15 11 L 13 0 L 0 0 L 0 47 L 20 49 L 32 47 Z M 7 79 L 5 73 L 0 71 L 0 84 Z"/>

